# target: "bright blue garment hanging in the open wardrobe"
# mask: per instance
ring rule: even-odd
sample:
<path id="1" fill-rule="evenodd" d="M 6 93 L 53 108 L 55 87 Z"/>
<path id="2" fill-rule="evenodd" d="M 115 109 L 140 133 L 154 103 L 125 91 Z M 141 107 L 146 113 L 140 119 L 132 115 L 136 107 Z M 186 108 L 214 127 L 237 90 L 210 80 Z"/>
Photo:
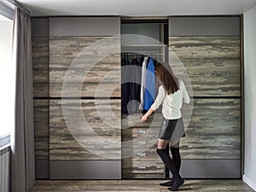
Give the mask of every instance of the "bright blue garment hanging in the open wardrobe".
<path id="1" fill-rule="evenodd" d="M 154 74 L 154 61 L 152 58 L 148 61 L 145 92 L 144 92 L 144 105 L 143 108 L 148 110 L 154 103 L 155 98 L 155 74 Z"/>

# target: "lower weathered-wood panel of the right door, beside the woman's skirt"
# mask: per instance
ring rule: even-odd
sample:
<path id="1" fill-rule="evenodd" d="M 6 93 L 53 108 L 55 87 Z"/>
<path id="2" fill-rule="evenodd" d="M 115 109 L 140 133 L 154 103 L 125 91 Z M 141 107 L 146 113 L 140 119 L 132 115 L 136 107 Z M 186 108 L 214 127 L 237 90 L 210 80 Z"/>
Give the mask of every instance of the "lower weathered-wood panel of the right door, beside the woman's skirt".
<path id="1" fill-rule="evenodd" d="M 195 99 L 180 148 L 183 159 L 241 159 L 240 99 Z"/>

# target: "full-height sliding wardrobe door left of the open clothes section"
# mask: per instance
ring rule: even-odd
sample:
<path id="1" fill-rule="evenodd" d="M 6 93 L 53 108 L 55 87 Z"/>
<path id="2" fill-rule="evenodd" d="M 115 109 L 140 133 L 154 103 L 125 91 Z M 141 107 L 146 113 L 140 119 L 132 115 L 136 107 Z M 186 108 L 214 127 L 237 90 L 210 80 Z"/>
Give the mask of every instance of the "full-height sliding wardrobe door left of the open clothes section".
<path id="1" fill-rule="evenodd" d="M 120 20 L 49 18 L 49 177 L 121 178 Z"/>

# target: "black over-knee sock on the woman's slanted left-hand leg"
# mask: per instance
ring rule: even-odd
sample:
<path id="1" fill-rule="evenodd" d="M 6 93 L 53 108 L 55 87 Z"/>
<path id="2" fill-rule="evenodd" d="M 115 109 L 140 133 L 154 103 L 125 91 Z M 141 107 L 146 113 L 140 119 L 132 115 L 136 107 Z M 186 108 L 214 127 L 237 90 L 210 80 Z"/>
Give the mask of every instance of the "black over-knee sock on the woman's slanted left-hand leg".
<path id="1" fill-rule="evenodd" d="M 177 172 L 176 165 L 172 161 L 171 157 L 167 154 L 166 149 L 157 148 L 156 152 L 160 155 L 161 160 L 166 164 L 167 168 L 172 172 L 172 176 L 175 179 L 179 179 L 180 175 Z"/>

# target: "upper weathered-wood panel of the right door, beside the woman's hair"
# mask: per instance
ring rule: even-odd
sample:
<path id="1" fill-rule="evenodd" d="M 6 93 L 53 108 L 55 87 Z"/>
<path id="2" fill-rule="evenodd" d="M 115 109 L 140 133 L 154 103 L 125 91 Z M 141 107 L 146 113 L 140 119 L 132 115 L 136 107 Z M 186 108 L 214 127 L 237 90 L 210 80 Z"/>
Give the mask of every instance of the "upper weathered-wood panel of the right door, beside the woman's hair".
<path id="1" fill-rule="evenodd" d="M 194 96 L 241 96 L 240 37 L 169 37 L 169 61 Z M 184 68 L 183 68 L 184 67 Z"/>

